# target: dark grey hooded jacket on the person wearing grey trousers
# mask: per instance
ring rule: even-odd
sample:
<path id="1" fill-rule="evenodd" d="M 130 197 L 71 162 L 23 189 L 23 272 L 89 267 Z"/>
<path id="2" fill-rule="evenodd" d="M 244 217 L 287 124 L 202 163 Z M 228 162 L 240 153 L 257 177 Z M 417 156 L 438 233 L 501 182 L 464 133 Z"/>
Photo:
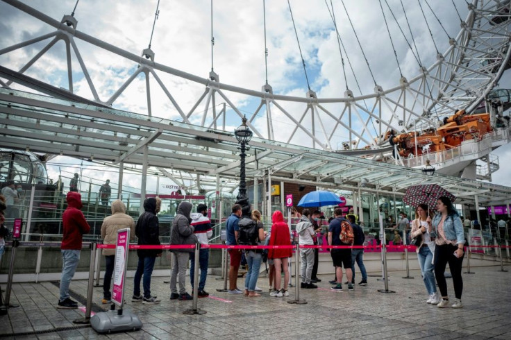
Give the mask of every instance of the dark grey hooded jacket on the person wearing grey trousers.
<path id="1" fill-rule="evenodd" d="M 195 228 L 190 225 L 190 212 L 192 212 L 192 203 L 181 202 L 172 228 L 170 230 L 170 244 L 196 244 L 197 237 L 194 235 Z M 194 249 L 172 249 L 174 253 L 193 253 Z"/>

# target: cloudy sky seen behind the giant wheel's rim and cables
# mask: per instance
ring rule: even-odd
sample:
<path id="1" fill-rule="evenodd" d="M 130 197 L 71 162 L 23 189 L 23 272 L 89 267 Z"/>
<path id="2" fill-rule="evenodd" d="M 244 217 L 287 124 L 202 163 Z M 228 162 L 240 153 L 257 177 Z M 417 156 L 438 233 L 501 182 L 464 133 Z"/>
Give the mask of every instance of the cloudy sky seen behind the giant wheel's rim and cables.
<path id="1" fill-rule="evenodd" d="M 57 20 L 60 20 L 63 15 L 70 14 L 76 3 L 76 1 L 67 0 L 24 2 Z M 74 17 L 78 20 L 79 31 L 140 55 L 149 44 L 157 2 L 157 0 L 82 0 L 78 3 Z M 421 61 L 423 65 L 429 66 L 435 62 L 436 51 L 421 8 L 417 1 L 403 1 L 405 8 L 403 12 L 399 0 L 383 0 L 381 2 L 396 46 L 403 76 L 411 79 L 417 76 L 419 65 L 399 31 L 392 13 L 410 39 L 405 14 L 408 16 Z M 328 3 L 330 6 L 330 0 L 292 0 L 290 3 L 311 89 L 323 98 L 344 96 L 346 83 L 341 57 L 333 22 L 326 4 Z M 387 3 L 389 7 L 387 7 Z M 464 0 L 455 0 L 456 7 L 451 1 L 445 0 L 429 0 L 428 3 L 448 33 L 444 33 L 431 10 L 426 6 L 426 2 L 421 1 L 435 43 L 439 51 L 443 52 L 449 46 L 448 35 L 455 37 L 460 31 L 460 19 L 458 19 L 456 10 L 464 19 L 468 12 L 467 4 Z M 262 0 L 214 1 L 212 14 L 215 37 L 214 69 L 219 74 L 221 83 L 251 90 L 260 90 L 261 86 L 265 84 L 265 35 L 262 6 Z M 206 78 L 212 67 L 210 1 L 161 1 L 159 10 L 151 44 L 151 49 L 156 53 L 155 61 Z M 394 51 L 392 51 L 378 1 L 333 1 L 333 10 L 337 28 L 346 47 L 346 53 L 343 51 L 343 56 L 346 62 L 347 85 L 353 90 L 355 96 L 360 95 L 360 92 L 348 65 L 348 58 L 353 65 L 356 80 L 360 83 L 363 94 L 374 92 L 374 82 L 353 34 L 349 19 L 358 33 L 360 44 L 367 56 L 376 83 L 384 89 L 398 85 L 399 69 L 394 60 Z M 0 36 L 2 37 L 0 49 L 54 31 L 54 28 L 38 22 L 3 2 L 0 2 L 0 13 Z M 266 1 L 266 30 L 268 82 L 274 88 L 274 93 L 305 96 L 308 86 L 305 82 L 287 1 Z M 47 42 L 40 42 L 6 53 L 0 56 L 0 64 L 11 69 L 19 69 Z M 131 61 L 91 47 L 79 40 L 76 40 L 76 43 L 92 76 L 99 97 L 103 101 L 106 101 L 137 67 Z M 92 93 L 78 68 L 76 57 L 73 56 L 72 61 L 74 92 L 91 99 Z M 46 80 L 53 85 L 68 88 L 66 72 L 65 45 L 63 42 L 58 42 L 33 67 L 28 69 L 26 74 Z M 162 73 L 158 75 L 185 112 L 190 110 L 204 90 L 203 85 L 197 85 L 188 80 Z M 114 107 L 132 112 L 146 112 L 144 81 L 144 76 L 140 75 L 119 96 Z M 500 87 L 511 88 L 508 73 L 504 74 L 501 79 Z M 230 94 L 229 98 L 247 115 L 253 112 L 259 103 L 255 99 L 240 94 Z M 151 100 L 153 115 L 169 119 L 179 117 L 176 109 L 154 81 L 151 83 Z M 220 102 L 217 100 L 217 105 Z M 292 110 L 292 106 L 286 108 Z M 301 110 L 303 112 L 303 109 Z M 227 117 L 227 124 L 231 128 L 240 124 L 232 110 L 228 112 Z M 197 116 L 192 119 L 192 123 L 197 124 L 200 119 L 201 117 Z M 255 119 L 254 125 L 264 130 L 262 128 L 263 117 Z M 274 128 L 276 137 L 284 137 L 286 133 L 289 133 L 291 125 L 283 114 L 275 112 Z M 337 131 L 335 133 L 337 135 Z M 340 129 L 338 139 L 345 140 L 346 132 Z M 298 141 L 294 142 L 298 143 Z M 337 146 L 333 145 L 333 148 L 337 148 Z M 501 158 L 502 164 L 502 160 L 511 157 L 511 147 L 509 145 L 501 147 L 494 151 L 494 154 Z M 71 162 L 60 158 L 56 159 L 57 161 L 62 164 Z M 504 168 L 501 167 L 498 172 L 494 173 L 493 181 L 502 185 L 511 185 L 510 171 Z M 49 170 L 51 173 L 56 171 L 55 169 Z M 75 171 L 75 169 L 67 170 L 70 173 Z M 112 178 L 110 175 L 102 171 L 90 173 L 90 176 L 101 178 L 101 180 L 106 179 L 107 176 Z M 137 180 L 133 180 L 133 185 L 136 184 L 135 182 Z M 151 180 L 149 185 L 151 185 Z"/>

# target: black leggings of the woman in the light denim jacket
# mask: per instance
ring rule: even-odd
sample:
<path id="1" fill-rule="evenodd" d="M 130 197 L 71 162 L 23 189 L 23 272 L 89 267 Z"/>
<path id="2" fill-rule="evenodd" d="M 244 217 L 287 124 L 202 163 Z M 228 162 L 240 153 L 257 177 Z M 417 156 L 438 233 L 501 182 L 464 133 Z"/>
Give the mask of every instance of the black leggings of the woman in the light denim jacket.
<path id="1" fill-rule="evenodd" d="M 447 263 L 451 275 L 453 275 L 454 294 L 456 298 L 461 299 L 463 291 L 463 279 L 461 278 L 461 269 L 463 263 L 463 256 L 458 258 L 454 256 L 455 250 L 458 246 L 451 244 L 444 244 L 443 246 L 435 247 L 435 277 L 437 278 L 438 288 L 442 296 L 447 296 L 447 282 L 445 281 L 444 271 Z"/>

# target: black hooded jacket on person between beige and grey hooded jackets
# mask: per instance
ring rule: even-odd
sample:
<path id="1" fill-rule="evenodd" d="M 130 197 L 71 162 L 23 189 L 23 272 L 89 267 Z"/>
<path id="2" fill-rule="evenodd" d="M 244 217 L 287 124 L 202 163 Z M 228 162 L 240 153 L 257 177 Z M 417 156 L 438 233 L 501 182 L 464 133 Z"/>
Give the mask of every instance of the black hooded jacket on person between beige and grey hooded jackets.
<path id="1" fill-rule="evenodd" d="M 144 212 L 139 216 L 135 226 L 135 235 L 140 245 L 159 245 L 160 226 L 156 216 L 156 198 L 146 198 L 144 201 Z M 156 256 L 162 253 L 160 249 L 138 249 L 139 257 Z"/>

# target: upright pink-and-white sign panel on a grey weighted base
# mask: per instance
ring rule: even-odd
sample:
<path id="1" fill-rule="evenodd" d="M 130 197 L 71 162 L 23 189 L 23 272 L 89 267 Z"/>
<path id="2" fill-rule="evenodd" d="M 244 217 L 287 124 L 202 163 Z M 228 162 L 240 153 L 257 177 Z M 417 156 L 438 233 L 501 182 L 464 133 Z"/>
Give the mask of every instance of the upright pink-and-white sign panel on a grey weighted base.
<path id="1" fill-rule="evenodd" d="M 126 278 L 126 262 L 128 261 L 129 239 L 129 228 L 117 231 L 112 302 L 119 307 L 122 307 L 124 302 L 124 279 Z"/>

